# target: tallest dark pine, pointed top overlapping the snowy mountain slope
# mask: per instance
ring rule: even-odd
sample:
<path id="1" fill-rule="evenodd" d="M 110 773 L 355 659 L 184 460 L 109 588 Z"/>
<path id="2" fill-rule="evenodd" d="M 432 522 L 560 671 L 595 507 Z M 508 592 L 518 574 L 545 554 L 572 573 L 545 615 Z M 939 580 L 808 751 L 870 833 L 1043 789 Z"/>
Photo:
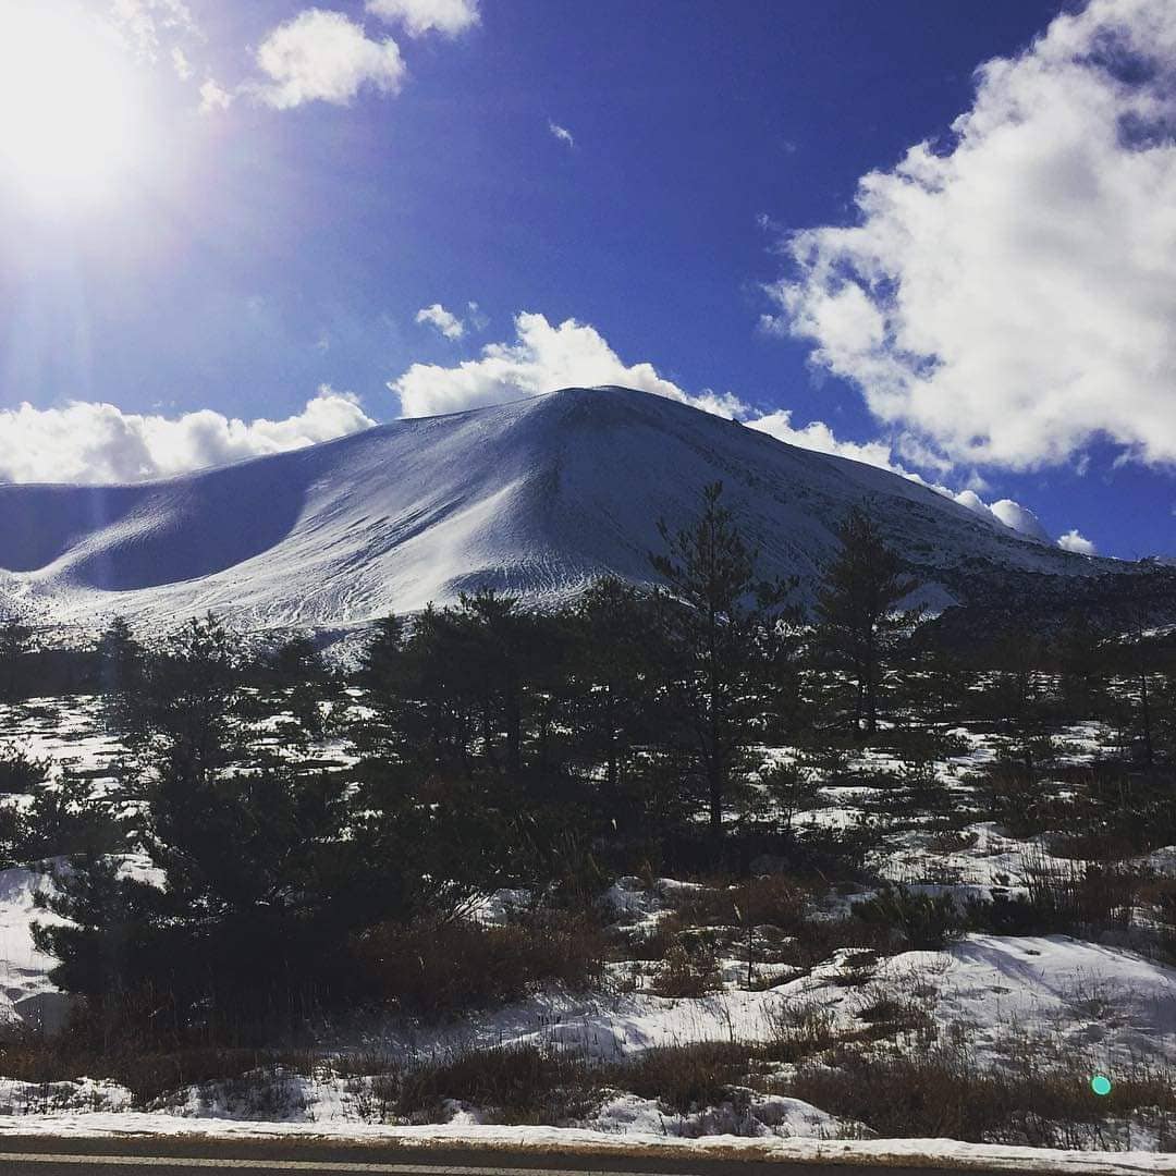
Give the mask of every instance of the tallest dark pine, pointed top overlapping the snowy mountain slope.
<path id="1" fill-rule="evenodd" d="M 722 834 L 740 753 L 753 739 L 748 687 L 760 635 L 793 588 L 757 579 L 757 553 L 722 494 L 722 482 L 704 487 L 697 519 L 677 532 L 659 522 L 666 552 L 650 555 L 677 606 L 666 612 L 669 646 L 681 666 L 677 703 L 702 768 L 715 837 Z"/>

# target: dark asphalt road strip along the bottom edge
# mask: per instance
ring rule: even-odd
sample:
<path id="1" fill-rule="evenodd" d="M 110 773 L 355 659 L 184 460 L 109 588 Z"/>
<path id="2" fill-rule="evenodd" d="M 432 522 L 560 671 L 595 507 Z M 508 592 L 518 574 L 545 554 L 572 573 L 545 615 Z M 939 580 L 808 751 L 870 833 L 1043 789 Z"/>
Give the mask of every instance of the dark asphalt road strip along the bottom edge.
<path id="1" fill-rule="evenodd" d="M 200 1137 L 0 1137 L 0 1176 L 82 1176 L 85 1172 L 183 1176 L 234 1172 L 355 1172 L 360 1176 L 829 1176 L 828 1164 L 756 1160 L 694 1160 L 616 1152 L 427 1150 L 399 1144 Z M 838 1163 L 836 1176 L 960 1176 L 960 1169 Z M 977 1169 L 971 1169 L 977 1171 Z"/>

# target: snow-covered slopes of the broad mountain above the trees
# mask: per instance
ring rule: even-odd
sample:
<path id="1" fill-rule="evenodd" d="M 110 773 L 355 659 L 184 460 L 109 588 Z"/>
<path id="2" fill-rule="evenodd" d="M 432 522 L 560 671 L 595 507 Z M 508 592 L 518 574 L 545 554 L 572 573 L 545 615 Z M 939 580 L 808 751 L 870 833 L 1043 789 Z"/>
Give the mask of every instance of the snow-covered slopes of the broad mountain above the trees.
<path id="1" fill-rule="evenodd" d="M 906 479 L 623 388 L 569 388 L 140 486 L 0 487 L 0 595 L 34 619 L 207 609 L 348 626 L 476 586 L 552 602 L 604 572 L 648 581 L 656 521 L 722 479 L 764 570 L 811 584 L 846 512 L 940 584 L 1115 566 L 1018 536 Z"/>

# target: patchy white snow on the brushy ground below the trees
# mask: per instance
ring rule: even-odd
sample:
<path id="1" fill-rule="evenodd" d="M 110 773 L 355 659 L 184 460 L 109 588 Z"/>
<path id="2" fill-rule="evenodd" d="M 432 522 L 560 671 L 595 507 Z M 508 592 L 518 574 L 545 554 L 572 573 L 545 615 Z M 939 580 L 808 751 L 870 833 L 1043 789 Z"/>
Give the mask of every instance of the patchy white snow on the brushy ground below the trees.
<path id="1" fill-rule="evenodd" d="M 98 790 L 112 782 L 121 749 L 103 734 L 95 700 L 36 700 L 0 708 L 0 724 L 19 746 L 53 761 L 55 771 L 66 766 L 80 769 Z M 935 777 L 944 789 L 967 799 L 969 773 L 993 760 L 998 741 L 977 730 L 954 734 L 963 750 L 938 761 Z M 1094 754 L 1103 733 L 1075 728 L 1064 733 L 1064 739 L 1063 754 L 1081 762 Z M 339 764 L 348 760 L 338 740 L 316 749 L 319 753 Z M 771 757 L 795 757 L 795 753 L 777 749 Z M 881 753 L 848 757 L 836 782 L 818 789 L 796 823 L 841 828 L 864 820 L 882 821 L 886 836 L 874 854 L 876 875 L 958 897 L 1015 893 L 1029 860 L 1038 867 L 1064 862 L 1049 854 L 1043 838 L 1018 840 L 988 820 L 964 818 L 946 838 L 922 828 L 909 814 L 891 822 L 894 828 L 889 829 L 884 800 L 893 784 L 886 776 L 900 767 L 893 756 Z M 1176 847 L 1154 850 L 1141 863 L 1171 873 Z M 149 864 L 142 860 L 128 857 L 123 868 L 151 876 Z M 0 871 L 0 1034 L 11 1034 L 22 1024 L 40 1024 L 46 1002 L 54 1000 L 48 980 L 53 961 L 35 949 L 29 931 L 33 918 L 53 917 L 34 907 L 36 891 L 51 884 L 52 876 L 44 867 Z M 677 917 L 677 910 L 707 893 L 708 887 L 697 881 L 621 878 L 601 896 L 601 909 L 617 936 L 640 938 L 657 933 L 667 918 Z M 861 897 L 829 896 L 829 911 L 844 913 Z M 528 900 L 520 890 L 487 895 L 470 917 L 503 922 Z M 281 1123 L 283 1130 L 356 1137 L 401 1131 L 414 1140 L 473 1134 L 503 1143 L 541 1142 L 552 1137 L 553 1129 L 495 1125 L 487 1122 L 493 1115 L 485 1108 L 456 1101 L 445 1104 L 445 1124 L 412 1130 L 379 1125 L 390 1116 L 376 1089 L 380 1076 L 356 1073 L 346 1064 L 348 1056 L 379 1055 L 389 1065 L 400 1065 L 470 1050 L 537 1045 L 567 1050 L 587 1064 L 616 1067 L 661 1047 L 770 1044 L 813 1023 L 818 1023 L 831 1041 L 867 1040 L 877 1021 L 873 1010 L 884 1002 L 897 1002 L 909 1014 L 908 1028 L 896 1030 L 900 1036 L 915 1035 L 918 1025 L 929 1025 L 930 1038 L 950 1037 L 967 1051 L 971 1064 L 985 1070 L 1000 1071 L 1027 1048 L 1047 1068 L 1064 1065 L 1080 1077 L 1130 1074 L 1141 1067 L 1165 1073 L 1176 1069 L 1176 969 L 1121 946 L 1061 935 L 971 934 L 942 951 L 878 956 L 831 948 L 814 967 L 753 961 L 753 983 L 748 985 L 747 957 L 728 943 L 720 949 L 716 965 L 722 983 L 701 996 L 656 995 L 650 977 L 657 965 L 627 960 L 612 963 L 608 983 L 588 995 L 541 991 L 516 1004 L 443 1025 L 372 1021 L 352 1041 L 323 1041 L 313 1073 L 268 1068 L 241 1080 L 175 1091 L 146 1110 L 129 1090 L 109 1081 L 79 1078 L 46 1084 L 0 1077 L 0 1130 L 256 1132 L 278 1130 L 273 1124 Z M 842 1148 L 842 1143 L 829 1142 L 838 1137 L 860 1140 L 869 1134 L 860 1123 L 838 1120 L 820 1107 L 770 1089 L 787 1084 L 794 1073 L 791 1063 L 775 1064 L 768 1074 L 770 1081 L 743 1088 L 739 1098 L 687 1111 L 629 1090 L 609 1089 L 573 1120 L 573 1128 L 561 1129 L 557 1138 L 561 1145 L 617 1138 L 647 1147 L 657 1140 L 706 1137 L 708 1148 L 744 1148 L 750 1138 L 771 1155 L 799 1158 L 815 1154 L 813 1149 L 828 1155 L 828 1149 Z M 12 1117 L 2 1117 L 5 1114 Z M 265 1125 L 259 1125 L 262 1121 Z M 1162 1144 L 1158 1135 L 1128 1127 L 1125 1134 L 1114 1135 L 1114 1147 L 1154 1150 Z M 1105 1140 L 1094 1144 L 1109 1145 Z M 844 1147 L 850 1150 L 837 1155 L 942 1155 L 971 1161 L 982 1156 L 994 1164 L 1001 1157 L 1010 1164 L 1023 1163 L 1015 1149 L 955 1151 L 955 1145 L 943 1141 L 934 1147 L 926 1141 L 867 1141 Z M 771 1150 L 780 1148 L 784 1150 Z M 1044 1154 L 1035 1155 L 1035 1162 L 1045 1163 Z M 1050 1154 L 1050 1162 L 1055 1168 L 1076 1163 L 1062 1154 Z M 1163 1167 L 1149 1169 L 1149 1164 L 1151 1160 L 1123 1154 L 1114 1161 L 1098 1161 L 1089 1170 Z"/>

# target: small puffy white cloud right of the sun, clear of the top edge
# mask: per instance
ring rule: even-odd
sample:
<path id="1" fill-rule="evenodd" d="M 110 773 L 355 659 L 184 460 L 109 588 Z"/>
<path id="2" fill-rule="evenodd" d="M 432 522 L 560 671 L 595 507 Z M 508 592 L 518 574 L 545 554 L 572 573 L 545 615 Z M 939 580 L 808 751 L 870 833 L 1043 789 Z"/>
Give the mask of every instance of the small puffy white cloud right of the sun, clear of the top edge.
<path id="1" fill-rule="evenodd" d="M 256 60 L 269 81 L 249 89 L 280 111 L 315 101 L 346 106 L 365 87 L 395 94 L 406 73 L 390 36 L 370 40 L 361 25 L 322 8 L 279 25 L 259 46 Z"/>

